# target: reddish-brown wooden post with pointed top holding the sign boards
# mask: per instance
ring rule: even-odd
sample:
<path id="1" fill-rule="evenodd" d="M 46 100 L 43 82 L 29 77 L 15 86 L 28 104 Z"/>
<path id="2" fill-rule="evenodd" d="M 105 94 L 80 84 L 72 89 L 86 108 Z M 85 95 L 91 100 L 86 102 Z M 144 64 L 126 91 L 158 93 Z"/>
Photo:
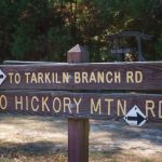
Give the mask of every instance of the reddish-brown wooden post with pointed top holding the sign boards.
<path id="1" fill-rule="evenodd" d="M 68 63 L 87 63 L 89 52 L 77 44 L 67 52 Z M 89 119 L 68 119 L 68 162 L 89 162 Z"/>

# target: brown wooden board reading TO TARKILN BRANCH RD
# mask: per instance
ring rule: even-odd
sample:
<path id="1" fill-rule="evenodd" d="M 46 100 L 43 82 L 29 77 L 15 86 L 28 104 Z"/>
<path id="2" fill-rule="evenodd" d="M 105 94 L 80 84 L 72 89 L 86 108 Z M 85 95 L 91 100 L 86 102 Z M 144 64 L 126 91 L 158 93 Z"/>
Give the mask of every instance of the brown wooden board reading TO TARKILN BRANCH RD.
<path id="1" fill-rule="evenodd" d="M 162 63 L 1 65 L 1 90 L 162 90 Z"/>

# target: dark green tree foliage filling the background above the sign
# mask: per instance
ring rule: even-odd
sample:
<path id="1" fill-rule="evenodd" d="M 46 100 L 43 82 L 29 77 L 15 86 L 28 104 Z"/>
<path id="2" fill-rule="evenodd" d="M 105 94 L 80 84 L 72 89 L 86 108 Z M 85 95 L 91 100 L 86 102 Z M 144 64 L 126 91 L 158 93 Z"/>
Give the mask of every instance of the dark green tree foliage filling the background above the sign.
<path id="1" fill-rule="evenodd" d="M 122 30 L 152 35 L 148 59 L 161 59 L 161 0 L 1 0 L 0 59 L 66 60 L 80 43 L 92 62 L 110 60 L 110 41 Z M 132 43 L 132 42 L 130 42 Z M 156 55 L 157 57 L 154 57 Z"/>

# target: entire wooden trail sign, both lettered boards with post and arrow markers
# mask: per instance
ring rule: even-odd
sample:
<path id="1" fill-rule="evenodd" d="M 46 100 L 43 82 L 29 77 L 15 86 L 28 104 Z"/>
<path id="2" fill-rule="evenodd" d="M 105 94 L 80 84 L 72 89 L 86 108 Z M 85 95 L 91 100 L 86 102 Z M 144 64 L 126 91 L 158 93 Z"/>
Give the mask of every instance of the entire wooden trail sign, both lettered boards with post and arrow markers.
<path id="1" fill-rule="evenodd" d="M 89 162 L 89 119 L 124 117 L 136 126 L 162 121 L 162 94 L 141 94 L 162 91 L 162 62 L 90 64 L 80 45 L 68 51 L 67 62 L 1 65 L 0 112 L 68 118 L 68 162 Z"/>

